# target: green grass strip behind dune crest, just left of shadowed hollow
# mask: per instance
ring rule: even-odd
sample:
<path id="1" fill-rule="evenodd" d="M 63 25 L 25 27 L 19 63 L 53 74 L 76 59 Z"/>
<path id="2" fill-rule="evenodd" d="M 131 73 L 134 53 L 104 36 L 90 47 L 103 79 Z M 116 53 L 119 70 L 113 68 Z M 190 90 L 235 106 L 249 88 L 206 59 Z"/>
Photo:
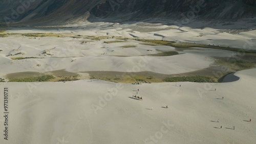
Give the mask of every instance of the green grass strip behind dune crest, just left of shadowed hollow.
<path id="1" fill-rule="evenodd" d="M 216 83 L 213 77 L 208 76 L 183 76 L 163 79 L 164 82 L 198 82 L 198 83 Z"/>

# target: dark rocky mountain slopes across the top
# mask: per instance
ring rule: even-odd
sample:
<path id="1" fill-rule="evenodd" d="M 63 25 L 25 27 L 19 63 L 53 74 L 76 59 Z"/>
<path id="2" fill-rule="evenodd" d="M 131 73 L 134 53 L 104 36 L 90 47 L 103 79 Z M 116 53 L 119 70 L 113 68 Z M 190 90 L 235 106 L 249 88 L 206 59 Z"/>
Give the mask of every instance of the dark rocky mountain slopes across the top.
<path id="1" fill-rule="evenodd" d="M 0 21 L 40 23 L 148 18 L 256 17 L 255 0 L 2 0 Z"/>

